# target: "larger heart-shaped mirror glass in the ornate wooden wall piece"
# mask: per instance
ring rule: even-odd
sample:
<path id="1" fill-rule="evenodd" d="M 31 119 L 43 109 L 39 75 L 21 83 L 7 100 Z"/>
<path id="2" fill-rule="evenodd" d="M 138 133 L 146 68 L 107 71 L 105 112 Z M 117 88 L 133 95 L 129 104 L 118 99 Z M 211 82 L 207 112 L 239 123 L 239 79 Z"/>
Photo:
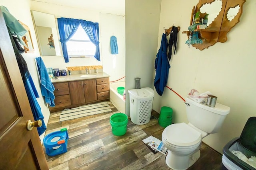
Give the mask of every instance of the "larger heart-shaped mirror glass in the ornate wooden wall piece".
<path id="1" fill-rule="evenodd" d="M 202 7 L 200 8 L 200 12 L 209 14 L 207 27 L 212 23 L 212 21 L 215 20 L 215 18 L 217 18 L 217 16 L 220 14 L 221 9 L 222 0 L 215 0 L 214 2 L 202 5 Z"/>

